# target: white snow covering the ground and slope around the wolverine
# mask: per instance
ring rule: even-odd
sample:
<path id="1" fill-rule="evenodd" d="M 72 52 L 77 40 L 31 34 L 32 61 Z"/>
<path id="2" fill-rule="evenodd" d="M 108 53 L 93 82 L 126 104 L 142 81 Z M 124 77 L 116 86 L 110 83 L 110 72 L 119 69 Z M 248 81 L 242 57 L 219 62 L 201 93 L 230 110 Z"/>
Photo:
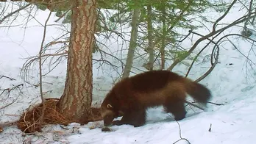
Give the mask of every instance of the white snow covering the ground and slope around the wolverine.
<path id="1" fill-rule="evenodd" d="M 238 8 L 232 9 L 232 12 L 221 23 L 225 24 L 234 21 L 243 15 L 243 10 L 238 11 Z M 31 86 L 31 84 L 38 84 L 39 82 L 37 65 L 30 69 L 29 83 L 31 84 L 21 79 L 22 73 L 20 72 L 26 58 L 35 56 L 39 52 L 43 37 L 43 27 L 40 24 L 44 24 L 49 11 L 33 10 L 32 15 L 35 15 L 36 20 L 30 17 L 27 24 L 26 15 L 28 12 L 24 10 L 21 11 L 21 14 L 22 16 L 17 17 L 12 24 L 3 23 L 0 25 L 0 78 L 1 76 L 9 76 L 15 79 L 10 80 L 2 77 L 0 79 L 0 89 L 3 90 L 18 84 L 24 84 L 20 89 L 11 90 L 10 96 L 7 96 L 7 92 L 0 96 L 0 107 L 10 104 L 17 98 L 14 104 L 0 109 L 0 126 L 1 123 L 17 120 L 19 115 L 30 104 L 40 102 L 38 87 Z M 212 13 L 208 15 L 210 16 Z M 47 27 L 46 43 L 65 33 L 62 30 L 63 27 L 60 26 L 61 22 L 54 22 L 56 19 L 52 15 L 49 20 L 49 25 L 51 24 L 51 26 Z M 9 25 L 13 26 L 10 28 L 4 27 Z M 201 29 L 200 32 L 203 34 L 207 31 L 206 29 Z M 224 34 L 227 35 L 229 32 L 241 32 L 241 28 L 234 27 L 224 32 Z M 101 37 L 98 38 L 100 39 Z M 126 38 L 129 39 L 129 37 Z M 252 36 L 252 38 L 255 39 L 255 36 Z M 121 53 L 121 40 L 118 39 L 119 42 L 114 43 L 115 39 L 117 38 L 110 37 L 110 40 L 102 40 L 102 43 L 105 43 L 110 49 L 103 48 L 115 55 L 115 57 L 120 58 L 122 62 L 125 62 L 126 51 Z M 252 62 L 255 62 L 256 57 L 249 41 L 238 39 L 237 37 L 229 37 L 229 39 L 238 49 L 230 43 L 222 43 L 219 56 L 220 63 L 216 65 L 216 68 L 209 76 L 200 82 L 211 90 L 213 94 L 211 101 L 223 104 L 221 106 L 207 104 L 208 107 L 205 112 L 195 107 L 186 107 L 188 114 L 185 119 L 179 120 L 178 123 L 173 120 L 172 115 L 163 112 L 163 107 L 152 108 L 147 111 L 148 116 L 144 126 L 137 128 L 128 125 L 112 126 L 110 127 L 112 132 L 102 132 L 102 121 L 90 122 L 84 126 L 80 126 L 78 123 L 71 123 L 68 126 L 64 126 L 66 129 L 59 125 L 49 125 L 43 128 L 43 132 L 32 135 L 23 134 L 16 126 L 7 126 L 0 133 L 0 143 L 165 144 L 175 143 L 180 139 L 180 136 L 190 143 L 196 144 L 254 143 L 253 136 L 256 134 L 256 73 L 253 69 L 255 65 L 246 63 L 246 57 L 249 57 Z M 196 39 L 194 38 L 193 40 Z M 122 48 L 126 49 L 127 46 L 127 43 L 125 43 Z M 184 46 L 190 45 L 185 43 Z M 51 51 L 47 51 L 47 53 L 57 51 L 59 47 L 60 45 L 53 46 Z M 210 51 L 211 49 L 209 48 L 205 53 L 210 54 Z M 99 52 L 93 54 L 94 59 L 99 59 L 100 57 Z M 121 63 L 118 60 L 114 60 L 109 55 L 105 55 L 105 57 L 119 67 L 113 69 L 108 65 L 103 65 L 103 68 L 98 68 L 101 65 L 99 62 L 93 65 L 93 104 L 100 104 L 105 94 L 118 79 L 118 73 L 121 73 L 122 70 Z M 188 75 L 189 78 L 197 79 L 210 68 L 209 60 L 203 63 L 203 58 L 200 57 L 196 65 L 193 66 L 191 73 Z M 146 71 L 141 66 L 143 62 L 144 60 L 135 60 L 135 68 L 132 68 L 132 71 L 135 73 L 141 72 L 138 69 Z M 166 64 L 166 66 L 168 65 Z M 63 93 L 65 69 L 66 60 L 63 60 L 54 71 L 43 77 L 43 91 L 46 92 L 46 98 L 59 98 Z M 43 70 L 46 73 L 49 70 L 49 65 L 43 65 Z M 177 65 L 174 71 L 185 75 L 186 71 L 188 71 L 188 66 Z M 131 74 L 133 75 L 134 73 Z M 179 132 L 181 135 L 179 135 Z M 185 144 L 187 142 L 180 140 L 177 143 Z"/>

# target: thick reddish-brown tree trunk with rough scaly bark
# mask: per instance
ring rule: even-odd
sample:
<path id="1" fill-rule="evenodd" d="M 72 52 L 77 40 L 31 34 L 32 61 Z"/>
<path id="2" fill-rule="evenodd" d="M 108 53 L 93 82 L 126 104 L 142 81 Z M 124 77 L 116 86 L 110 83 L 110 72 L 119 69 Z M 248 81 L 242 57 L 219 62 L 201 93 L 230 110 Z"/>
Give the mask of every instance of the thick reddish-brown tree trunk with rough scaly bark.
<path id="1" fill-rule="evenodd" d="M 65 118 L 87 123 L 92 102 L 92 47 L 96 0 L 75 0 L 65 90 L 57 107 Z"/>

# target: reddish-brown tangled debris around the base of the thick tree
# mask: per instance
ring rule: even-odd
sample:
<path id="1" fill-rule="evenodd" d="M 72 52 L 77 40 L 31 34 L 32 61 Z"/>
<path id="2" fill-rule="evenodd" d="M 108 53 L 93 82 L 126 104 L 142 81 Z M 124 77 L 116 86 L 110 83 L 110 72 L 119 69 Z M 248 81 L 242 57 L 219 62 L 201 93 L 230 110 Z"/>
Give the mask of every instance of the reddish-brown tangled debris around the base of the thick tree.
<path id="1" fill-rule="evenodd" d="M 21 115 L 20 120 L 18 120 L 18 129 L 21 129 L 22 132 L 34 133 L 36 131 L 41 132 L 42 127 L 46 124 L 63 124 L 66 126 L 68 123 L 74 122 L 74 120 L 69 120 L 60 114 L 59 109 L 56 106 L 58 101 L 58 98 L 46 99 L 46 109 L 43 120 L 41 120 L 42 104 L 29 107 L 29 109 Z M 90 113 L 86 117 L 88 118 L 87 123 L 90 121 L 102 120 L 100 109 L 96 107 L 91 107 Z"/>

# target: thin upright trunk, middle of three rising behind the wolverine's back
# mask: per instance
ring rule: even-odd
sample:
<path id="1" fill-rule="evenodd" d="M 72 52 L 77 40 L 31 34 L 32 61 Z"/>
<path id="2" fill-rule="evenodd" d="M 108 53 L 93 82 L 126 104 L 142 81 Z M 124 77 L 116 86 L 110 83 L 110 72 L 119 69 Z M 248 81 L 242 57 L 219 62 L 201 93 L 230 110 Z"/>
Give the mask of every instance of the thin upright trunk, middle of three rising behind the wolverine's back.
<path id="1" fill-rule="evenodd" d="M 148 11 L 148 40 L 149 40 L 149 71 L 153 70 L 154 65 L 154 47 L 153 47 L 153 26 L 152 26 L 152 6 L 147 6 Z"/>

